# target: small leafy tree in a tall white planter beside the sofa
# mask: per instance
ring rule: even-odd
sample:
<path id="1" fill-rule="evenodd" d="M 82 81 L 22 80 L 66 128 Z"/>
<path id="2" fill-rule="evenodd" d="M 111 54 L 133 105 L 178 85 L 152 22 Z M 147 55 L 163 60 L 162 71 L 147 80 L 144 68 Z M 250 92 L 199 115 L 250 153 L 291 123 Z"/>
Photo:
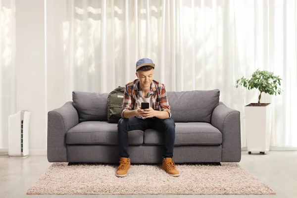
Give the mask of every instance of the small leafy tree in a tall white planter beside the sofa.
<path id="1" fill-rule="evenodd" d="M 249 103 L 245 106 L 245 125 L 247 134 L 247 151 L 260 152 L 265 154 L 269 151 L 271 135 L 271 105 L 261 103 L 261 94 L 280 95 L 281 78 L 273 72 L 257 69 L 251 77 L 242 77 L 236 81 L 236 88 L 243 86 L 248 90 L 257 89 L 260 91 L 257 103 Z"/>

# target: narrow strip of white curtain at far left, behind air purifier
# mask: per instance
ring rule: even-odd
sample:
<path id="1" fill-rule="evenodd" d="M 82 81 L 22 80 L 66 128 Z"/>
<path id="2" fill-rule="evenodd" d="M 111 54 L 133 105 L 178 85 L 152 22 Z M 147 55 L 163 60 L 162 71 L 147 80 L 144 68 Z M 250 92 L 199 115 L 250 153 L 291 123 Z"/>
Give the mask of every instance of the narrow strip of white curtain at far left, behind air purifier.
<path id="1" fill-rule="evenodd" d="M 15 0 L 0 0 L 0 153 L 7 153 L 15 96 Z"/>

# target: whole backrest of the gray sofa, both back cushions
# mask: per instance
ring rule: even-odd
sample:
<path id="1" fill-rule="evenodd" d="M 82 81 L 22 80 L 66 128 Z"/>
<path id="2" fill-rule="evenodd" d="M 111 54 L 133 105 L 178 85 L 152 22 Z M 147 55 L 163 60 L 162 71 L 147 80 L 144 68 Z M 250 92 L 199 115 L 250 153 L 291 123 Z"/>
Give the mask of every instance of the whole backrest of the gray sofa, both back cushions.
<path id="1" fill-rule="evenodd" d="M 79 121 L 107 121 L 108 93 L 72 92 L 73 106 Z M 175 122 L 208 122 L 213 109 L 219 104 L 220 91 L 167 92 L 167 98 Z"/>

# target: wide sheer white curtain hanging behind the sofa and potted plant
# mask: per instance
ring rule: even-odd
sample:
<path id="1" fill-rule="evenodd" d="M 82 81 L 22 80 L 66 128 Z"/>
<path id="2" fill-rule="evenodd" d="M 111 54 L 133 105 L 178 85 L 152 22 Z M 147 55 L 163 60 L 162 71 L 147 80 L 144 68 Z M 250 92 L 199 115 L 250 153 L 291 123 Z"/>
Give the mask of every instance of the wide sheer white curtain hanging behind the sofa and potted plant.
<path id="1" fill-rule="evenodd" d="M 48 84 L 60 79 L 49 88 L 49 97 L 60 93 L 51 106 L 71 100 L 73 90 L 124 86 L 136 78 L 136 61 L 148 57 L 167 91 L 219 89 L 220 100 L 241 111 L 246 147 L 244 106 L 259 93 L 236 89 L 235 82 L 260 68 L 283 78 L 281 96 L 261 99 L 273 106 L 271 147 L 297 147 L 295 0 L 64 2 L 47 2 Z"/>

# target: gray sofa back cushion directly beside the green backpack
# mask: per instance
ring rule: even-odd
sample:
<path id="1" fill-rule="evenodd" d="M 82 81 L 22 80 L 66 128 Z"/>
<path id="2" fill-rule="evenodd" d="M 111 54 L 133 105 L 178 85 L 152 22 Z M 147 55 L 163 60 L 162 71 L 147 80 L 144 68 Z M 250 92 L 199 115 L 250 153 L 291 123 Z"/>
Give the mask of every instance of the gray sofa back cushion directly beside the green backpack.
<path id="1" fill-rule="evenodd" d="M 78 112 L 79 121 L 107 121 L 107 97 L 107 93 L 73 91 L 73 106 Z"/>

